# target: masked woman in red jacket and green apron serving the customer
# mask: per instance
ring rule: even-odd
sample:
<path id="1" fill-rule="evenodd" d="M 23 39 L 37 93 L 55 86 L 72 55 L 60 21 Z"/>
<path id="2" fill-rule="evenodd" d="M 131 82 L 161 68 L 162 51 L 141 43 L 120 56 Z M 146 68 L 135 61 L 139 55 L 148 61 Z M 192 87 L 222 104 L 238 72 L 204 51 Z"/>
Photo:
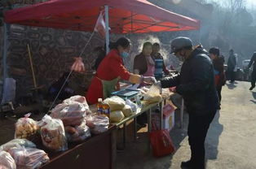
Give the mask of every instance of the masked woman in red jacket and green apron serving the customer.
<path id="1" fill-rule="evenodd" d="M 129 80 L 133 84 L 141 82 L 153 83 L 155 78 L 151 76 L 139 76 L 126 70 L 122 58 L 130 53 L 130 40 L 121 37 L 113 46 L 113 50 L 99 64 L 96 75 L 91 81 L 86 101 L 89 104 L 98 102 L 98 98 L 108 98 L 112 92 L 117 90 L 118 80 Z"/>

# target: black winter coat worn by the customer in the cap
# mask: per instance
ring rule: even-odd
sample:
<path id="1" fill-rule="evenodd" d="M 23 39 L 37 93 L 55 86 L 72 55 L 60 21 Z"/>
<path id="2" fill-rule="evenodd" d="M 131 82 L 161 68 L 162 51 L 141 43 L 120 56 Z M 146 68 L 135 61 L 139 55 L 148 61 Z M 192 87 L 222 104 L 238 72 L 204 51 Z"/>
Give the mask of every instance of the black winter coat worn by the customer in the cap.
<path id="1" fill-rule="evenodd" d="M 205 50 L 196 48 L 181 68 L 178 76 L 161 80 L 162 88 L 176 86 L 184 98 L 188 113 L 205 115 L 218 106 L 214 86 L 214 67 Z"/>

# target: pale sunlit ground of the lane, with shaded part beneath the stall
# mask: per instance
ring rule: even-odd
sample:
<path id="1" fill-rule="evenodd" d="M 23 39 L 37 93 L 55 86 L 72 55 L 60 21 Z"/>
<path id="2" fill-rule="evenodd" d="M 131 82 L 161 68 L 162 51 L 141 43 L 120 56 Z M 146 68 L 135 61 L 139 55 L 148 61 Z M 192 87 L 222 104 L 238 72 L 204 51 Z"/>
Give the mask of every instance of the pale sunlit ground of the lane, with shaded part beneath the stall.
<path id="1" fill-rule="evenodd" d="M 223 87 L 222 109 L 217 113 L 205 141 L 208 169 L 256 168 L 256 89 L 248 82 L 227 83 Z M 117 169 L 178 169 L 190 158 L 185 114 L 183 129 L 174 128 L 170 136 L 176 152 L 162 158 L 152 157 L 146 132 L 137 141 L 130 140 L 126 149 L 117 151 Z"/>

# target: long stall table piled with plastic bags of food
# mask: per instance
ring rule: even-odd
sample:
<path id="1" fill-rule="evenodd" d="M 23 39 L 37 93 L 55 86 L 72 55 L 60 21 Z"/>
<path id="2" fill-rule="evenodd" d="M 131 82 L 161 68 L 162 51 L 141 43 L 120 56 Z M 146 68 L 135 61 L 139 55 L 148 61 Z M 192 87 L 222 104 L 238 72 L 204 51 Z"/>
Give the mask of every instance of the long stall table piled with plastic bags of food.
<path id="1" fill-rule="evenodd" d="M 155 87 L 153 86 L 152 89 Z M 110 114 L 111 124 L 105 120 L 108 117 L 100 115 L 99 107 L 97 107 L 98 109 L 95 109 L 95 106 L 89 107 L 82 96 L 64 100 L 63 103 L 51 110 L 51 115 L 45 115 L 39 121 L 34 121 L 29 118 L 29 115 L 26 115 L 24 118 L 18 119 L 15 124 L 15 139 L 11 143 L 8 142 L 0 146 L 0 150 L 11 154 L 9 158 L 13 159 L 12 161 L 7 160 L 7 162 L 10 165 L 16 165 L 17 168 L 32 166 L 42 168 L 83 168 L 85 166 L 95 169 L 114 168 L 116 128 L 120 125 L 124 125 L 125 128 L 127 121 L 148 112 L 148 132 L 150 132 L 152 107 L 165 100 L 159 95 L 159 90 L 154 91 L 156 95 L 151 95 L 150 89 L 149 92 L 138 94 L 139 97 L 143 96 L 140 106 L 117 96 L 104 100 L 104 102 L 109 102 L 110 99 L 113 99 L 112 102 L 109 102 L 109 106 L 112 108 L 115 106 L 116 110 L 122 110 L 120 113 L 126 115 L 126 118 L 123 115 L 120 119 Z M 125 111 L 128 104 L 131 105 L 129 112 Z M 115 111 L 110 113 L 113 112 Z M 86 121 L 86 125 L 83 124 L 83 120 L 77 120 L 80 117 Z M 71 133 L 71 128 L 77 134 Z M 77 140 L 77 138 L 79 139 Z M 101 163 L 97 163 L 99 159 Z M 0 165 L 3 165 L 2 161 L 4 159 L 0 156 Z"/>

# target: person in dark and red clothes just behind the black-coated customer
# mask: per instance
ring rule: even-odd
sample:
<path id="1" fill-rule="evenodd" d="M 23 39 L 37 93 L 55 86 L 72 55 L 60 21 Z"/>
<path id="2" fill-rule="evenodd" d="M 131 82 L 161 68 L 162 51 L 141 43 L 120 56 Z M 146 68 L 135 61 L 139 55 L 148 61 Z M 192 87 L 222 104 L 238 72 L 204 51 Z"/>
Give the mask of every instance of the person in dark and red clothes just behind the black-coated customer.
<path id="1" fill-rule="evenodd" d="M 222 98 L 221 90 L 223 89 L 223 85 L 225 85 L 226 83 L 226 77 L 224 73 L 225 60 L 223 56 L 219 55 L 219 49 L 217 47 L 210 48 L 209 54 L 214 65 L 215 85 L 216 85 L 216 90 L 218 92 L 218 99 L 220 102 Z"/>

